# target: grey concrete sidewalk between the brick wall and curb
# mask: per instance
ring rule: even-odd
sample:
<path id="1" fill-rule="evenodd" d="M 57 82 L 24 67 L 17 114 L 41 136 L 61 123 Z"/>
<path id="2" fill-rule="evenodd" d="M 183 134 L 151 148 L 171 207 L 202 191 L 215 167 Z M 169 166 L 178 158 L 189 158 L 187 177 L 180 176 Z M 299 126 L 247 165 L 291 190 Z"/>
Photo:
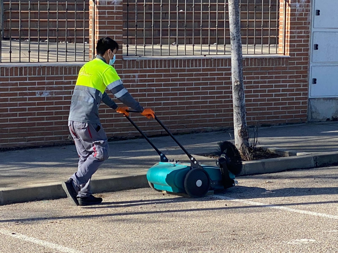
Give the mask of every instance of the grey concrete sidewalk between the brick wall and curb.
<path id="1" fill-rule="evenodd" d="M 234 134 L 233 132 L 209 132 L 179 135 L 176 138 L 191 154 L 198 155 L 214 152 L 218 141 L 231 140 L 234 138 Z M 169 160 L 189 161 L 184 152 L 169 136 L 151 138 L 151 141 L 166 154 Z M 315 167 L 318 153 L 321 153 L 321 156 L 323 154 L 330 154 L 328 161 L 322 161 L 321 164 L 329 165 L 337 163 L 337 142 L 338 122 L 259 128 L 260 145 L 270 147 L 272 150 L 273 148 L 275 150 L 291 150 L 292 152 L 290 153 L 293 155 L 296 153 L 303 155 L 297 158 L 298 162 L 295 162 L 296 157 L 292 158 L 293 161 L 290 160 L 291 164 L 297 164 L 294 168 Z M 96 180 L 106 180 L 107 184 L 113 184 L 114 182 L 114 184 L 118 185 L 121 178 L 128 178 L 129 180 L 129 182 L 121 183 L 122 188 L 137 188 L 147 185 L 146 180 L 144 180 L 145 173 L 149 167 L 159 161 L 159 156 L 146 140 L 142 138 L 113 141 L 110 142 L 110 146 L 110 158 L 105 161 L 103 166 L 93 176 L 93 189 L 96 189 L 96 192 L 105 191 L 105 188 L 102 188 L 102 182 L 95 182 Z M 43 189 L 41 191 L 51 192 L 49 194 L 50 198 L 59 196 L 53 196 L 53 189 L 46 189 L 52 185 L 53 187 L 58 187 L 57 191 L 62 192 L 60 188 L 61 181 L 68 179 L 75 172 L 78 161 L 74 145 L 5 151 L 0 152 L 0 154 L 0 204 L 4 202 L 3 197 L 1 197 L 4 192 L 8 193 L 9 190 L 14 191 L 15 189 L 34 188 L 35 191 L 36 189 Z M 309 154 L 310 156 L 311 154 L 316 156 L 311 156 L 311 160 Z M 337 157 L 337 161 L 335 159 L 332 160 L 335 157 Z M 205 157 L 196 157 L 196 159 L 202 164 L 215 164 L 214 159 Z M 280 160 L 269 160 L 271 161 L 245 162 L 244 167 L 248 168 L 249 165 L 251 167 L 255 165 L 256 167 L 250 167 L 250 170 L 246 169 L 244 174 L 255 173 L 253 171 L 255 168 L 258 168 L 258 170 L 260 167 L 266 168 L 267 164 L 269 164 L 270 168 L 262 171 L 262 173 L 274 172 L 274 168 L 275 171 L 281 171 Z M 285 161 L 283 160 L 283 164 L 285 164 Z M 290 166 L 286 167 L 286 169 L 291 169 L 292 165 Z M 260 173 L 260 171 L 256 171 L 256 173 Z M 132 180 L 133 176 L 139 178 L 135 177 L 134 181 L 136 181 L 131 183 L 130 180 Z M 106 190 L 112 189 L 114 190 L 115 188 Z M 14 191 L 13 194 L 19 193 L 15 193 Z M 49 198 L 49 195 L 47 194 L 43 198 Z"/>

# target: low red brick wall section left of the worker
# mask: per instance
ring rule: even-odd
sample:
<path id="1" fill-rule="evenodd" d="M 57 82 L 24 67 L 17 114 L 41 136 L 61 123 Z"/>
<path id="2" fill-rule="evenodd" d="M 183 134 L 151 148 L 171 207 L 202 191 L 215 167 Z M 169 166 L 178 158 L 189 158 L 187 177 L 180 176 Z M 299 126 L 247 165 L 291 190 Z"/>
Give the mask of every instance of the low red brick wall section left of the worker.
<path id="1" fill-rule="evenodd" d="M 0 67 L 0 147 L 67 139 L 67 111 L 78 66 Z"/>

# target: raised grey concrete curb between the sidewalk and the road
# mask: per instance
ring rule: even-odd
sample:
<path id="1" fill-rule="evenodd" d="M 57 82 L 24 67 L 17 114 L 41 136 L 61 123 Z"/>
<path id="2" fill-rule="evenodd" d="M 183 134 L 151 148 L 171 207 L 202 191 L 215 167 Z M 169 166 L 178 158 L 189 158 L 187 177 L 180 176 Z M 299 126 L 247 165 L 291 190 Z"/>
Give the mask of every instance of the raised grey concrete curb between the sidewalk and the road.
<path id="1" fill-rule="evenodd" d="M 204 159 L 206 158 L 204 157 Z M 212 163 L 215 161 L 215 159 L 209 159 Z M 240 176 L 316 168 L 334 164 L 338 164 L 338 152 L 308 153 L 301 156 L 243 162 L 243 171 Z M 149 187 L 146 172 L 96 177 L 92 179 L 91 185 L 93 193 Z M 0 205 L 65 197 L 66 194 L 61 187 L 61 182 L 0 188 Z"/>

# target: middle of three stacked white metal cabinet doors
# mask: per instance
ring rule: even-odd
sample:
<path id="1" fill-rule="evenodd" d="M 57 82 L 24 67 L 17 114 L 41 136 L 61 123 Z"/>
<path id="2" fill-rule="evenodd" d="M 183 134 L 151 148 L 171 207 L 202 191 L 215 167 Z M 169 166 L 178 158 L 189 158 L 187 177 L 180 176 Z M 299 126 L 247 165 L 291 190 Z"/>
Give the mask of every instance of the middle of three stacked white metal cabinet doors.
<path id="1" fill-rule="evenodd" d="M 314 32 L 312 62 L 338 62 L 337 41 L 338 32 Z"/>

